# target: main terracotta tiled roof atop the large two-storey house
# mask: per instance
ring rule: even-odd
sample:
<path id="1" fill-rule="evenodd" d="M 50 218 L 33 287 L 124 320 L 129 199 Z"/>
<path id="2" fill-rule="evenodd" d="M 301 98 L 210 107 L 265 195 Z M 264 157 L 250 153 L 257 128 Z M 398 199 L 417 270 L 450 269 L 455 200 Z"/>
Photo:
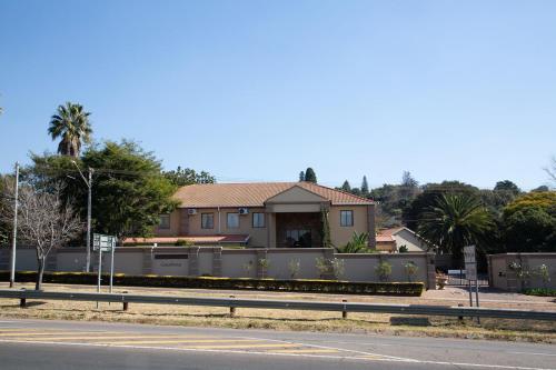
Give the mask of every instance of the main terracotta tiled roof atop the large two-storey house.
<path id="1" fill-rule="evenodd" d="M 311 182 L 191 184 L 178 189 L 175 198 L 182 208 L 264 207 L 267 199 L 296 186 L 330 200 L 332 204 L 373 204 L 369 199 Z"/>

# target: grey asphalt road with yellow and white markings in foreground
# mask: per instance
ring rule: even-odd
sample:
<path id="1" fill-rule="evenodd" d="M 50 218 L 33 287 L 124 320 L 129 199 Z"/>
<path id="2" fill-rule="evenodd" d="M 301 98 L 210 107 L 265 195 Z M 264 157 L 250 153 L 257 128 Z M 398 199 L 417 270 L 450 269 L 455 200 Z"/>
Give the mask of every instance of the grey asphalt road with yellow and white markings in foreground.
<path id="1" fill-rule="evenodd" d="M 2 320 L 0 369 L 556 369 L 556 346 Z"/>

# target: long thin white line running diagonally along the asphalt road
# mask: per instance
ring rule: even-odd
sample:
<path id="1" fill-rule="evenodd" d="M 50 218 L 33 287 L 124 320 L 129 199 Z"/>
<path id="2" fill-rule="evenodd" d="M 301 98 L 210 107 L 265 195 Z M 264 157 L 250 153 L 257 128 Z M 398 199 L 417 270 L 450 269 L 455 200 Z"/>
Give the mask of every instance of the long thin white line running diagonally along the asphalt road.
<path id="1" fill-rule="evenodd" d="M 403 358 L 385 358 L 378 353 L 365 353 L 361 357 L 346 357 L 334 354 L 301 354 L 301 353 L 277 353 L 277 352 L 260 352 L 260 351 L 239 351 L 239 350 L 219 350 L 219 349 L 196 349 L 196 348 L 176 348 L 176 347 L 149 347 L 149 346 L 118 346 L 106 343 L 77 343 L 77 342 L 46 342 L 46 341 L 14 341 L 14 340 L 0 340 L 0 342 L 9 343 L 26 343 L 26 344 L 54 344 L 54 346 L 70 346 L 70 347 L 111 347 L 111 348 L 126 348 L 126 349 L 147 349 L 147 350 L 168 350 L 181 352 L 212 352 L 212 353 L 229 353 L 229 354 L 257 354 L 257 356 L 282 356 L 282 357 L 310 357 L 334 360 L 365 360 L 365 361 L 383 361 L 383 362 L 406 362 L 406 363 L 426 363 L 426 364 L 441 364 L 450 367 L 468 367 L 468 368 L 487 368 L 487 369 L 506 369 L 506 370 L 556 370 L 554 368 L 528 368 L 528 367 L 514 367 L 506 364 L 486 364 L 486 363 L 470 363 L 470 362 L 448 362 L 448 361 L 428 361 L 415 360 Z M 307 344 L 304 344 L 307 346 Z M 380 358 L 375 358 L 379 356 Z"/>

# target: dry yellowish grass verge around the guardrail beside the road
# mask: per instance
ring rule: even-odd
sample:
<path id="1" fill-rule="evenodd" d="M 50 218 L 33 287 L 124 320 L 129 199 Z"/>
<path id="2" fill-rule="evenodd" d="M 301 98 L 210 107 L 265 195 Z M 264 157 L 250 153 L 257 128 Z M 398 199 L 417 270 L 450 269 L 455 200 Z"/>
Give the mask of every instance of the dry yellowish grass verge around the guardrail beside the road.
<path id="1" fill-rule="evenodd" d="M 48 290 L 56 291 L 93 291 L 91 287 L 50 286 Z M 141 289 L 118 288 L 130 293 L 165 294 L 165 296 L 210 296 L 229 297 L 229 292 L 185 291 L 179 289 Z M 259 299 L 307 299 L 307 300 L 341 300 L 334 294 L 300 294 L 241 292 L 238 298 Z M 349 296 L 350 301 L 391 302 L 393 298 Z M 399 298 L 399 303 L 415 303 L 411 298 Z M 407 301 L 409 300 L 409 302 Z M 357 333 L 387 333 L 395 336 L 427 336 L 446 338 L 502 339 L 533 342 L 556 343 L 556 322 L 529 320 L 481 319 L 480 326 L 475 320 L 466 318 L 458 322 L 457 318 L 411 317 L 385 313 L 349 313 L 347 320 L 341 319 L 341 312 L 300 311 L 300 310 L 267 310 L 236 309 L 236 317 L 229 317 L 228 308 L 189 307 L 169 304 L 130 303 L 128 311 L 122 311 L 121 303 L 99 303 L 77 301 L 33 301 L 27 309 L 19 308 L 18 300 L 0 299 L 0 317 L 33 318 L 86 321 L 113 321 L 151 324 L 172 324 L 188 327 L 221 327 L 237 329 L 274 329 L 295 331 L 334 331 Z M 427 301 L 429 303 L 429 301 Z M 446 301 L 439 301 L 447 306 Z M 429 303 L 435 304 L 435 303 Z"/>

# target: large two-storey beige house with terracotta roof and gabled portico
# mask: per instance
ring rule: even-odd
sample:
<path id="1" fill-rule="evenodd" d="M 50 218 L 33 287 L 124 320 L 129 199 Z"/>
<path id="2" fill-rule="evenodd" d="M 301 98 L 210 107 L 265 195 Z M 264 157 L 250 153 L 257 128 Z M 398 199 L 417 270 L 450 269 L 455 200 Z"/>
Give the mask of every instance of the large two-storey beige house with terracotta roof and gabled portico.
<path id="1" fill-rule="evenodd" d="M 334 246 L 354 231 L 369 232 L 375 247 L 371 200 L 311 182 L 207 183 L 180 188 L 179 207 L 160 217 L 156 238 L 128 238 L 125 244 L 322 247 L 324 219 Z"/>

